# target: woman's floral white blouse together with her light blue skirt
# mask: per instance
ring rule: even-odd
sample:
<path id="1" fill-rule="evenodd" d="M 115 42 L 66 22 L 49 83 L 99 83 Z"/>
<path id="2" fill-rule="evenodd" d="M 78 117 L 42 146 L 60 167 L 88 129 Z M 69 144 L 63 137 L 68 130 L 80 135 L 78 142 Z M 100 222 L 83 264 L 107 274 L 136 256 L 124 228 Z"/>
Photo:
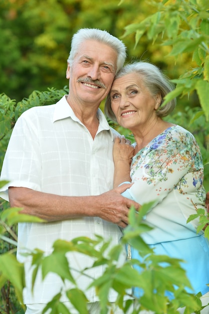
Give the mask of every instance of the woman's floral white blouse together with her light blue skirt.
<path id="1" fill-rule="evenodd" d="M 186 223 L 196 209 L 206 211 L 202 158 L 194 136 L 178 125 L 167 128 L 133 157 L 130 174 L 134 184 L 122 195 L 141 205 L 155 201 L 144 217 L 153 229 L 142 238 L 156 254 L 186 261 L 182 267 L 192 286 L 188 291 L 208 292 L 209 244 L 202 231 L 196 233 L 198 219 Z M 131 255 L 141 260 L 133 247 Z M 135 287 L 134 295 L 139 292 Z"/>

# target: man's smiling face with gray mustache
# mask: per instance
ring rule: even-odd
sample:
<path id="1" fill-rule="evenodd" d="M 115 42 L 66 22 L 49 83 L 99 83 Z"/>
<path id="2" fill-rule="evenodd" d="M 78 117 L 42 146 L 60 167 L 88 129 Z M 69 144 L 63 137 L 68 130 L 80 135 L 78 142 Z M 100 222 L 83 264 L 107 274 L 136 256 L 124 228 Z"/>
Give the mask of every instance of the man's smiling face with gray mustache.
<path id="1" fill-rule="evenodd" d="M 111 88 L 116 66 L 114 49 L 95 40 L 84 41 L 66 72 L 70 101 L 99 106 Z"/>

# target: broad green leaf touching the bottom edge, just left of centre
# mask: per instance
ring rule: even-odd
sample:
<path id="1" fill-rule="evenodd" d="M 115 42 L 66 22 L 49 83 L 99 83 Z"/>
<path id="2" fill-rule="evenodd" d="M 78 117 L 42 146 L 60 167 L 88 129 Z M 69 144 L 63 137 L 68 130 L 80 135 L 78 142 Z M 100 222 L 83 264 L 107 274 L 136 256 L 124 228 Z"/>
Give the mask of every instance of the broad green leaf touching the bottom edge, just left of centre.
<path id="1" fill-rule="evenodd" d="M 66 292 L 67 297 L 78 310 L 79 313 L 88 314 L 86 295 L 78 288 L 70 289 Z"/>

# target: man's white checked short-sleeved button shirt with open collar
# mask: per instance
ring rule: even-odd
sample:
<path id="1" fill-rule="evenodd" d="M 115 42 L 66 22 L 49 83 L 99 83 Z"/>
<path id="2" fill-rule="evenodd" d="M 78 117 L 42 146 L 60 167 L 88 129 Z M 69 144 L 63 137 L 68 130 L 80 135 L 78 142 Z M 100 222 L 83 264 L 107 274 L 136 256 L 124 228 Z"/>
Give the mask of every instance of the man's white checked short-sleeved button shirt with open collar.
<path id="1" fill-rule="evenodd" d="M 18 119 L 6 152 L 1 180 L 9 180 L 9 186 L 26 187 L 36 191 L 63 196 L 99 195 L 113 188 L 114 163 L 112 148 L 114 130 L 110 128 L 102 111 L 98 109 L 99 128 L 93 140 L 88 129 L 75 116 L 66 96 L 54 105 L 34 107 L 25 111 Z M 115 132 L 116 133 L 116 132 Z M 0 196 L 8 200 L 8 186 Z M 2 190 L 3 190 L 2 189 Z M 46 254 L 52 252 L 57 239 L 70 241 L 79 236 L 94 238 L 94 234 L 112 238 L 112 244 L 120 241 L 122 232 L 113 223 L 98 217 L 83 217 L 66 221 L 20 223 L 18 229 L 18 260 L 23 248 L 39 248 Z M 78 253 L 69 258 L 73 268 L 82 270 L 92 265 L 93 260 Z M 125 260 L 121 256 L 121 263 Z M 25 303 L 47 303 L 60 292 L 62 282 L 56 274 L 48 274 L 41 284 L 35 284 L 34 295 L 30 292 L 30 261 L 26 263 L 27 285 Z M 102 267 L 93 268 L 89 275 L 102 275 Z M 75 277 L 77 272 L 72 272 Z M 85 289 L 90 283 L 86 276 L 77 282 Z M 67 282 L 66 288 L 72 287 Z M 88 290 L 90 302 L 97 300 L 93 289 Z M 114 301 L 113 292 L 109 300 Z M 63 301 L 68 299 L 63 296 Z"/>

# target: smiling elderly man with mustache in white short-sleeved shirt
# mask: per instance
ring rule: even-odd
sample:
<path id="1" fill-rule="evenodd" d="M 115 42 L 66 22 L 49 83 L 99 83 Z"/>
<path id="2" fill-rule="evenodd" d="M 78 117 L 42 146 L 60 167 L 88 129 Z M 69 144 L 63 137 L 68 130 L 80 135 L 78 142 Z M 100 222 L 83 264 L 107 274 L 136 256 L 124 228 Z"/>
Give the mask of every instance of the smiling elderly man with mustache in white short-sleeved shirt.
<path id="1" fill-rule="evenodd" d="M 25 263 L 27 288 L 24 303 L 27 314 L 41 313 L 54 295 L 62 291 L 62 301 L 72 308 L 63 284 L 55 273 L 42 281 L 37 275 L 31 292 L 31 259 L 21 253 L 39 248 L 52 252 L 57 239 L 71 240 L 79 236 L 94 238 L 94 234 L 119 243 L 120 227 L 128 223 L 129 208 L 139 205 L 121 196 L 129 187 L 113 188 L 114 163 L 112 147 L 115 131 L 99 109 L 108 94 L 114 76 L 126 57 L 124 44 L 106 31 L 80 29 L 72 39 L 66 77 L 69 94 L 56 104 L 34 107 L 18 119 L 6 152 L 1 180 L 9 180 L 1 197 L 12 207 L 47 220 L 47 223 L 20 223 L 18 231 L 19 261 Z M 9 196 L 9 198 L 8 198 Z M 92 258 L 68 255 L 70 265 L 78 271 L 92 265 Z M 123 263 L 126 256 L 121 256 Z M 103 267 L 90 269 L 88 275 L 102 275 Z M 73 272 L 79 286 L 85 290 L 88 276 Z M 91 313 L 99 313 L 94 289 L 85 291 Z M 109 301 L 116 294 L 111 292 Z M 114 309 L 120 313 L 120 309 Z"/>

